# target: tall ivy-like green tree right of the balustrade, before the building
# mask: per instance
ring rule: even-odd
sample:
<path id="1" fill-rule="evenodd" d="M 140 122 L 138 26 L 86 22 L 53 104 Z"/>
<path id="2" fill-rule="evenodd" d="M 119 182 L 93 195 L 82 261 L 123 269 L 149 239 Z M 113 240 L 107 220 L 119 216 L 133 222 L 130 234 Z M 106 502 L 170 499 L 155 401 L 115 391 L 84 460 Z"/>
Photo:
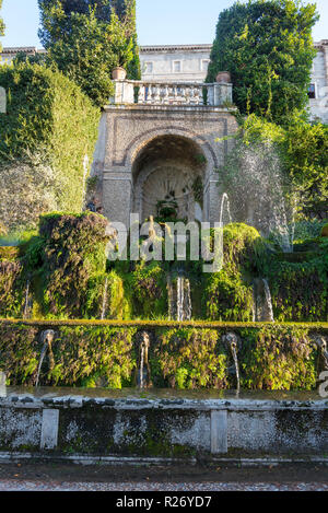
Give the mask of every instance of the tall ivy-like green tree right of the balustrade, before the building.
<path id="1" fill-rule="evenodd" d="M 308 102 L 317 19 L 316 5 L 301 0 L 236 2 L 219 16 L 207 81 L 230 71 L 242 114 L 285 123 Z"/>

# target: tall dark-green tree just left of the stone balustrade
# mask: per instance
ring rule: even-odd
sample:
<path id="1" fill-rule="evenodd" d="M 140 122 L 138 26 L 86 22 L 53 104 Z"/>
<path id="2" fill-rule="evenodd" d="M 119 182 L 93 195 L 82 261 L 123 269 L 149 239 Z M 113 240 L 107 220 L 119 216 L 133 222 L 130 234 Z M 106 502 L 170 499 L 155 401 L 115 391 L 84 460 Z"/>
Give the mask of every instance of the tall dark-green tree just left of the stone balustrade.
<path id="1" fill-rule="evenodd" d="M 38 0 L 47 61 L 75 81 L 97 106 L 113 92 L 112 70 L 140 77 L 136 0 Z"/>

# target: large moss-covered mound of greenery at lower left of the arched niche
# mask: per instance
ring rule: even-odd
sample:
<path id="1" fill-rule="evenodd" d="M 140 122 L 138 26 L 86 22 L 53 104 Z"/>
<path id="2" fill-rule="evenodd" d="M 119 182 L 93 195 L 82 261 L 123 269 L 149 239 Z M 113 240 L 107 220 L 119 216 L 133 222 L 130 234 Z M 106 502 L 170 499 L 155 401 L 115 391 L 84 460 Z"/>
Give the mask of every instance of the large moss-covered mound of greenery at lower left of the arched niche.
<path id="1" fill-rule="evenodd" d="M 106 269 L 106 226 L 105 218 L 91 212 L 42 218 L 45 314 L 67 318 L 95 314 L 90 298 L 87 302 L 89 287 L 94 277 Z"/>

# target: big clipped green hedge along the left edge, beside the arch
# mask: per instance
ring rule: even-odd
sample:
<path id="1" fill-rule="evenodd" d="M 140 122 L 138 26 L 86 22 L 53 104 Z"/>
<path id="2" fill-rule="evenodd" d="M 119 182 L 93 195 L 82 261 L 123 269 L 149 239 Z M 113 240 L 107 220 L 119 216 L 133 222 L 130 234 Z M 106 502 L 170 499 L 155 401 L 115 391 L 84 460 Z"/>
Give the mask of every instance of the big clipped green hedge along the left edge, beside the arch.
<path id="1" fill-rule="evenodd" d="M 0 86 L 8 95 L 0 125 L 1 222 L 14 230 L 35 225 L 39 213 L 55 208 L 80 212 L 98 110 L 78 85 L 38 65 L 2 66 Z"/>

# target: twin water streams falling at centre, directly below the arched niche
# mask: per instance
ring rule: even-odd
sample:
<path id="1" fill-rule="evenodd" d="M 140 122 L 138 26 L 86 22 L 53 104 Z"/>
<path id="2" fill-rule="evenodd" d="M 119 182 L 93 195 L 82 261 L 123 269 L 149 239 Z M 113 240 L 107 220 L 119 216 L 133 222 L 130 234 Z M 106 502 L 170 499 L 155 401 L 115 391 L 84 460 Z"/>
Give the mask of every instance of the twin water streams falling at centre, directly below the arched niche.
<path id="1" fill-rule="evenodd" d="M 181 273 L 176 283 L 167 276 L 168 316 L 176 320 L 190 320 L 192 317 L 190 281 Z"/>

